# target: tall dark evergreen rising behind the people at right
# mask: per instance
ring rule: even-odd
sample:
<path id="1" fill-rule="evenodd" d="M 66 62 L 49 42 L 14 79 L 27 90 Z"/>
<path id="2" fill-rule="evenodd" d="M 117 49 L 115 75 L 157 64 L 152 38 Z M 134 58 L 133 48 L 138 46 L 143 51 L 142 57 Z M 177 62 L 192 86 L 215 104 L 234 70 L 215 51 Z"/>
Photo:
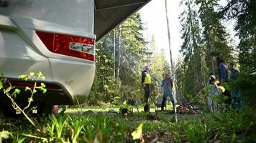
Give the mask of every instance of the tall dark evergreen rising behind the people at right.
<path id="1" fill-rule="evenodd" d="M 198 10 L 201 19 L 201 26 L 204 29 L 202 33 L 204 42 L 204 51 L 206 54 L 207 67 L 211 73 L 215 74 L 214 56 L 223 56 L 227 61 L 232 61 L 232 46 L 228 45 L 225 27 L 221 24 L 221 15 L 217 11 L 219 0 L 196 0 L 200 7 Z"/>

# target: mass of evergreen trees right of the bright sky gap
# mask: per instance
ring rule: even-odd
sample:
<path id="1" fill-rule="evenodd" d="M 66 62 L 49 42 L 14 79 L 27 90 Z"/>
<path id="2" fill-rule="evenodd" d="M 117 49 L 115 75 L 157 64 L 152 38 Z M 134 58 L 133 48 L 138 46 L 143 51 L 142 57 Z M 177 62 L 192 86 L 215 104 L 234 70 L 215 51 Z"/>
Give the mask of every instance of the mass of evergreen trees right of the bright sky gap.
<path id="1" fill-rule="evenodd" d="M 241 90 L 243 99 L 252 99 L 250 97 L 256 93 L 252 87 L 255 84 L 250 79 L 256 72 L 255 2 L 232 0 L 223 7 L 218 3 L 219 0 L 187 0 L 180 3 L 184 8 L 180 14 L 180 24 L 183 26 L 180 51 L 183 52 L 183 59 L 178 61 L 175 69 L 178 94 L 186 99 L 194 99 L 200 94 L 206 87 L 209 75 L 216 73 L 213 57 L 221 55 L 233 63 L 238 57 L 238 67 L 243 76 L 229 83 L 230 88 Z M 229 20 L 236 21 L 234 30 L 239 36 L 237 47 L 229 40 L 231 38 L 223 24 Z M 224 89 L 229 90 L 229 87 L 224 86 Z"/>

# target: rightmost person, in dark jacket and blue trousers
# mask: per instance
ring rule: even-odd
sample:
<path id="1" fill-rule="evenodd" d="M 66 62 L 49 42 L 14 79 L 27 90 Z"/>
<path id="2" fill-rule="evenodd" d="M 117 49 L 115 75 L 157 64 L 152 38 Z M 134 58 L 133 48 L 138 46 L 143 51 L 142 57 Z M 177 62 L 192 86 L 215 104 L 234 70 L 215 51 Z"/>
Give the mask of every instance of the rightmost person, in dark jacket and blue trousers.
<path id="1" fill-rule="evenodd" d="M 239 77 L 239 71 L 234 69 L 233 63 L 228 63 L 227 69 L 230 71 L 229 82 L 233 82 Z M 234 104 L 238 109 L 242 108 L 241 91 L 239 89 L 231 89 L 231 98 L 234 100 Z"/>

